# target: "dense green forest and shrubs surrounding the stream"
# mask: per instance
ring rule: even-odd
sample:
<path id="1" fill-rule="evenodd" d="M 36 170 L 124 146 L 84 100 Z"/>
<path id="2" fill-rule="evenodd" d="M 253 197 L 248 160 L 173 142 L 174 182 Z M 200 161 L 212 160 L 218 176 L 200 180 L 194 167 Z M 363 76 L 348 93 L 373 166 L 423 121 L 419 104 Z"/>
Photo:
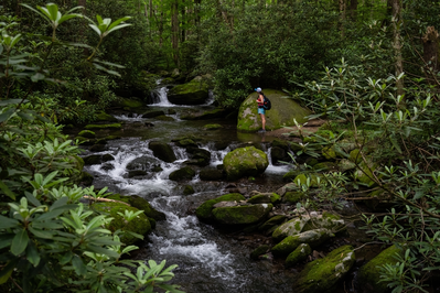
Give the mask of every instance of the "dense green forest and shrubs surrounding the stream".
<path id="1" fill-rule="evenodd" d="M 63 133 L 121 97 L 148 104 L 158 76 L 204 76 L 232 112 L 256 87 L 283 90 L 331 121 L 311 137 L 298 123 L 296 154 L 353 159 L 359 174 L 316 182 L 299 160 L 310 176 L 298 207 L 374 194 L 388 208 L 363 215 L 365 229 L 404 251 L 383 282 L 428 292 L 440 265 L 440 1 L 8 0 L 0 12 L 2 292 L 181 292 L 168 284 L 175 265 L 122 258 L 136 249 L 128 232 L 81 203 L 106 189 L 79 185 L 78 142 Z"/>

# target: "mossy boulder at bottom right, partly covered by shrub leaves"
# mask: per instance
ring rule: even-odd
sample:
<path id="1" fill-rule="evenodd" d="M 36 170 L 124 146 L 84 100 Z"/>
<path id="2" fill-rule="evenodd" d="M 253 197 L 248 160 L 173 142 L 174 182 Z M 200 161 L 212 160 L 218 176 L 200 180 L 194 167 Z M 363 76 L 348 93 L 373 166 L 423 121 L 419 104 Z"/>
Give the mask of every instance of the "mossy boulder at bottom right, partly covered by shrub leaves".
<path id="1" fill-rule="evenodd" d="M 368 261 L 365 265 L 363 265 L 357 274 L 357 280 L 362 283 L 365 287 L 364 292 L 376 292 L 376 293 L 386 293 L 390 292 L 387 287 L 386 282 L 380 282 L 380 270 L 379 268 L 384 264 L 396 264 L 396 256 L 401 256 L 401 249 L 397 248 L 396 246 L 391 246 L 384 251 L 382 251 L 378 256 L 374 259 Z"/>

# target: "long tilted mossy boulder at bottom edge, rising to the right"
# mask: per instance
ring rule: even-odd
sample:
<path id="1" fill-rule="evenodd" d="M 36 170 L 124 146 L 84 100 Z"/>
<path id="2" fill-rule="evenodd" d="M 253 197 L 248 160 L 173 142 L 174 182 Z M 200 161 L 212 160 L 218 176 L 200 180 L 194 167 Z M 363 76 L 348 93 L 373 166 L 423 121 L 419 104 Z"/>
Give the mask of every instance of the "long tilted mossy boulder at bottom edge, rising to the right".
<path id="1" fill-rule="evenodd" d="M 340 247 L 325 258 L 309 262 L 299 274 L 293 290 L 298 293 L 333 292 L 334 285 L 352 269 L 355 261 L 353 247 Z"/>

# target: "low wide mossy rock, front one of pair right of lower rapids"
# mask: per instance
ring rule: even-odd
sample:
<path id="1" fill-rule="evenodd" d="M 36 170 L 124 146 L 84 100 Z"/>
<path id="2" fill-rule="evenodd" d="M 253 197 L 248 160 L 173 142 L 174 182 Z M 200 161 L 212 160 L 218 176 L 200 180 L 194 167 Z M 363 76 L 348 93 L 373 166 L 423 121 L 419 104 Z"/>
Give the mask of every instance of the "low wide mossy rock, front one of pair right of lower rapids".
<path id="1" fill-rule="evenodd" d="M 212 210 L 214 219 L 226 225 L 249 225 L 258 223 L 269 215 L 271 204 L 217 207 Z"/>

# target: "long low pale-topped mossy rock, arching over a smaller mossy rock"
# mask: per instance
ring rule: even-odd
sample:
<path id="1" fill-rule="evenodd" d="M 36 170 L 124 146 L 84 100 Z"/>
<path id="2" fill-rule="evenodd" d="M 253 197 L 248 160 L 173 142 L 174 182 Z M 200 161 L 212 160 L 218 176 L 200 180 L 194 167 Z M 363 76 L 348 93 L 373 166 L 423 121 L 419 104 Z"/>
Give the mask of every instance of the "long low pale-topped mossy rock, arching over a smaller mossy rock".
<path id="1" fill-rule="evenodd" d="M 275 256 L 288 256 L 301 243 L 308 243 L 311 248 L 319 247 L 334 235 L 328 229 L 315 229 L 286 237 L 281 242 L 272 247 Z"/>

